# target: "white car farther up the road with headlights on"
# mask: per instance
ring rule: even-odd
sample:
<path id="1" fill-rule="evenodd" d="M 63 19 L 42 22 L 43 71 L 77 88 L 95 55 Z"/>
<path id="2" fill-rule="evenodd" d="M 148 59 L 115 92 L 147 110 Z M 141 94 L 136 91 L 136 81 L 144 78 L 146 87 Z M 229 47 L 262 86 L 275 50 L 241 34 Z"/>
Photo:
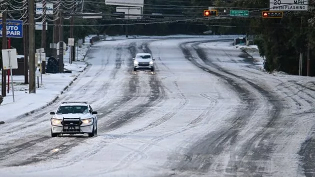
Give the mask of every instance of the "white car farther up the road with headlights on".
<path id="1" fill-rule="evenodd" d="M 137 53 L 133 59 L 133 71 L 137 69 L 149 69 L 154 71 L 154 60 L 150 53 Z"/>

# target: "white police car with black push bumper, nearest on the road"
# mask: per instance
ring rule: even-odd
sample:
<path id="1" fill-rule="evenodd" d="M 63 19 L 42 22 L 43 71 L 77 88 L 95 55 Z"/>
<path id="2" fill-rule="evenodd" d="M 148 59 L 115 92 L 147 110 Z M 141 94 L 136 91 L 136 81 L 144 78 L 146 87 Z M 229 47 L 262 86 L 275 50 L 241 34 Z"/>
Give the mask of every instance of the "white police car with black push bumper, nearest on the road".
<path id="1" fill-rule="evenodd" d="M 53 115 L 50 118 L 51 137 L 79 133 L 88 133 L 89 137 L 97 135 L 97 112 L 87 101 L 61 102 L 56 112 L 50 114 Z"/>

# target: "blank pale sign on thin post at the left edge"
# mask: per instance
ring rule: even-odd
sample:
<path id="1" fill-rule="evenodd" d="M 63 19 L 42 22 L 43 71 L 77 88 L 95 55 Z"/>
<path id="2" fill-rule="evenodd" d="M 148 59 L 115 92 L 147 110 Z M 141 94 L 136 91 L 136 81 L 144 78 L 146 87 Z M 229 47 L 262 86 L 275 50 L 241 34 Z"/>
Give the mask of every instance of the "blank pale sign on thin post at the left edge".
<path id="1" fill-rule="evenodd" d="M 2 49 L 2 64 L 3 69 L 10 69 L 11 74 L 11 85 L 12 85 L 12 95 L 14 102 L 14 86 L 13 86 L 13 76 L 12 76 L 12 68 L 17 68 L 17 57 L 16 57 L 16 49 Z"/>

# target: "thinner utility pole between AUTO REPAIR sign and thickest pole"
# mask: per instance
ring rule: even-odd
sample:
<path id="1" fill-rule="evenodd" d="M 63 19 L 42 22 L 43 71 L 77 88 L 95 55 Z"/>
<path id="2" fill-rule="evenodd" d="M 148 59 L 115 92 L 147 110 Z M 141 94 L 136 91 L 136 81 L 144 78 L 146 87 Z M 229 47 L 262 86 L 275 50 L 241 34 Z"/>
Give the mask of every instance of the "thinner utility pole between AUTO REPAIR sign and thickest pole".
<path id="1" fill-rule="evenodd" d="M 25 2 L 27 6 L 27 1 Z M 24 14 L 27 13 L 27 9 L 24 9 Z M 27 16 L 23 18 L 23 49 L 24 49 L 24 84 L 28 84 L 28 25 Z"/>

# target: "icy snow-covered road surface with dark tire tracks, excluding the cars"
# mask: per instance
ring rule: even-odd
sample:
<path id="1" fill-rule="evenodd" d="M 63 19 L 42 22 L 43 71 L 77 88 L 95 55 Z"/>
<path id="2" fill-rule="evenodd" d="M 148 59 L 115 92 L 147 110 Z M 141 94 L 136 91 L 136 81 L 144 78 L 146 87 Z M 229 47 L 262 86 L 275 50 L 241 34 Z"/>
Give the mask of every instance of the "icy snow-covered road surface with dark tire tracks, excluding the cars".
<path id="1" fill-rule="evenodd" d="M 231 41 L 96 42 L 56 103 L 0 126 L 0 176 L 314 176 L 315 79 L 262 72 Z M 132 71 L 137 52 L 154 72 Z M 98 136 L 50 137 L 64 100 L 91 103 Z"/>

